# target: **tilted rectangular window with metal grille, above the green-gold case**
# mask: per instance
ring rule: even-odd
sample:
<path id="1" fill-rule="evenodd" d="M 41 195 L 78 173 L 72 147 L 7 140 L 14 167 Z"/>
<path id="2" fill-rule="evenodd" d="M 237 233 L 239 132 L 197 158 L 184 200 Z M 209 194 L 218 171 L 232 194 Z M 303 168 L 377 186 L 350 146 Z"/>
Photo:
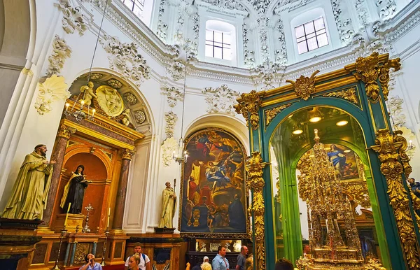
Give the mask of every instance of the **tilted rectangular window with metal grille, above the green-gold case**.
<path id="1" fill-rule="evenodd" d="M 297 52 L 316 50 L 328 45 L 328 36 L 323 17 L 295 27 Z"/>

